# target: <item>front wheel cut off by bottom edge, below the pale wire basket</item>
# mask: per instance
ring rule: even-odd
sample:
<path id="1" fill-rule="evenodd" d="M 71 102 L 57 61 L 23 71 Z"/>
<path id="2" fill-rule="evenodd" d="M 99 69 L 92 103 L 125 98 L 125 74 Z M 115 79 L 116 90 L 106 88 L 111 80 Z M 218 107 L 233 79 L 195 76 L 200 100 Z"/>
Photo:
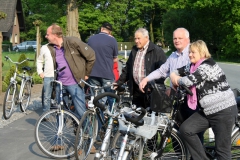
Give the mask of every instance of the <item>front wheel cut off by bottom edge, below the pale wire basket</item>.
<path id="1" fill-rule="evenodd" d="M 125 135 L 123 135 L 119 131 L 115 134 L 110 147 L 112 151 L 112 155 L 111 155 L 112 159 L 118 159 L 118 156 L 119 156 L 118 154 L 120 152 L 121 144 L 124 136 Z M 143 157 L 143 147 L 144 147 L 143 138 L 140 136 L 129 135 L 127 146 L 130 143 L 132 145 L 131 150 L 129 152 L 125 152 L 125 153 L 128 153 L 128 155 L 124 154 L 122 159 L 127 159 L 127 160 L 145 159 L 145 157 Z M 129 150 L 129 148 L 126 148 L 126 150 Z"/>

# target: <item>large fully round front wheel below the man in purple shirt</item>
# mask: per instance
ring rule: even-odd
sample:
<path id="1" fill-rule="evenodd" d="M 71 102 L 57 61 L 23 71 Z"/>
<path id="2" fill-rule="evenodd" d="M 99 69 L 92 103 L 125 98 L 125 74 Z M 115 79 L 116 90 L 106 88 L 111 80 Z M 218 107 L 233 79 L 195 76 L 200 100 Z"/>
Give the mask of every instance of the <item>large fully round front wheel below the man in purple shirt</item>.
<path id="1" fill-rule="evenodd" d="M 41 151 L 51 158 L 70 158 L 75 152 L 74 131 L 78 124 L 78 118 L 71 112 L 50 110 L 36 123 L 35 141 Z"/>

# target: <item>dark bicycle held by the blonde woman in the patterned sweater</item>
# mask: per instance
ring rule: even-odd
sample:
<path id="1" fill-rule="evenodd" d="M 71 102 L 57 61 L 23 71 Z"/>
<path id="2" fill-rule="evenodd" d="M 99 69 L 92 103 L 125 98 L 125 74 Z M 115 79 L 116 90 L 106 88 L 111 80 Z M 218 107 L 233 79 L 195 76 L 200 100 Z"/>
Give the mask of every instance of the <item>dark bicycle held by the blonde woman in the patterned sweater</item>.
<path id="1" fill-rule="evenodd" d="M 185 87 L 185 86 L 179 86 L 177 89 L 177 92 L 175 94 L 175 103 L 176 103 L 176 108 L 172 108 L 172 112 L 170 114 L 170 117 L 165 117 L 167 120 L 166 125 L 163 125 L 162 130 L 166 132 L 162 132 L 161 135 L 161 140 L 158 145 L 158 149 L 151 154 L 151 159 L 161 159 L 161 158 L 170 158 L 172 157 L 173 154 L 168 154 L 164 153 L 166 150 L 169 150 L 168 147 L 166 146 L 167 144 L 170 144 L 169 142 L 175 143 L 172 144 L 172 148 L 175 153 L 177 153 L 174 157 L 172 158 L 178 158 L 182 160 L 186 160 L 189 158 L 190 155 L 188 155 L 188 150 L 184 144 L 184 141 L 181 139 L 181 136 L 178 137 L 173 137 L 173 135 L 170 135 L 171 131 L 174 131 L 175 129 L 173 128 L 173 125 L 176 124 L 177 122 L 175 121 L 176 114 L 179 111 L 179 107 L 184 101 L 184 97 L 186 94 L 192 94 L 191 91 Z M 238 118 L 239 119 L 239 118 Z M 235 125 L 233 126 L 232 134 L 231 134 L 231 153 L 232 153 L 232 159 L 240 159 L 240 124 L 238 121 L 236 121 Z M 179 134 L 176 130 L 174 131 L 177 134 Z M 161 132 L 160 132 L 161 133 Z M 179 140 L 177 140 L 177 139 Z M 169 141 L 170 140 L 170 141 Z M 178 141 L 177 144 L 181 144 L 182 148 L 180 149 L 179 147 L 176 147 L 176 140 Z M 212 143 L 214 144 L 214 143 Z M 211 160 L 216 159 L 216 152 L 215 152 L 215 147 L 214 145 L 209 145 L 209 144 L 204 144 L 205 148 L 205 153 L 207 154 L 208 158 Z M 169 157 L 168 157 L 169 156 Z"/>

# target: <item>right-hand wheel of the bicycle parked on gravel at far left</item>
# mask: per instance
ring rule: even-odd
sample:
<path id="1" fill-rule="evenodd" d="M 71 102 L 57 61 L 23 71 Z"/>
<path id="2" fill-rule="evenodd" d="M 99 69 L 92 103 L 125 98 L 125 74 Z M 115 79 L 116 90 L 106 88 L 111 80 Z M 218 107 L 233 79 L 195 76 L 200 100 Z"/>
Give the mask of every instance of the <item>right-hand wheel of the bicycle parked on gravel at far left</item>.
<path id="1" fill-rule="evenodd" d="M 27 110 L 30 98 L 31 98 L 31 84 L 30 80 L 25 81 L 23 84 L 22 95 L 20 100 L 20 109 L 22 112 Z"/>

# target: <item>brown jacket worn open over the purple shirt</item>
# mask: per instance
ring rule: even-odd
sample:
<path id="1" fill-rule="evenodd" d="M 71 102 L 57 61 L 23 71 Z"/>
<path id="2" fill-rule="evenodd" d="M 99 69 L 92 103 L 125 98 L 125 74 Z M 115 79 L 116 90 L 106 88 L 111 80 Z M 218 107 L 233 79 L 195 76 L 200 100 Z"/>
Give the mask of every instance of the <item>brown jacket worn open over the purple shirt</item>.
<path id="1" fill-rule="evenodd" d="M 54 69 L 56 69 L 57 63 L 54 45 L 49 44 L 48 48 L 53 57 Z M 77 37 L 64 37 L 63 48 L 65 58 L 75 80 L 79 82 L 81 79 L 85 79 L 85 76 L 89 76 L 95 62 L 94 50 Z M 84 86 L 83 83 L 80 85 Z"/>

